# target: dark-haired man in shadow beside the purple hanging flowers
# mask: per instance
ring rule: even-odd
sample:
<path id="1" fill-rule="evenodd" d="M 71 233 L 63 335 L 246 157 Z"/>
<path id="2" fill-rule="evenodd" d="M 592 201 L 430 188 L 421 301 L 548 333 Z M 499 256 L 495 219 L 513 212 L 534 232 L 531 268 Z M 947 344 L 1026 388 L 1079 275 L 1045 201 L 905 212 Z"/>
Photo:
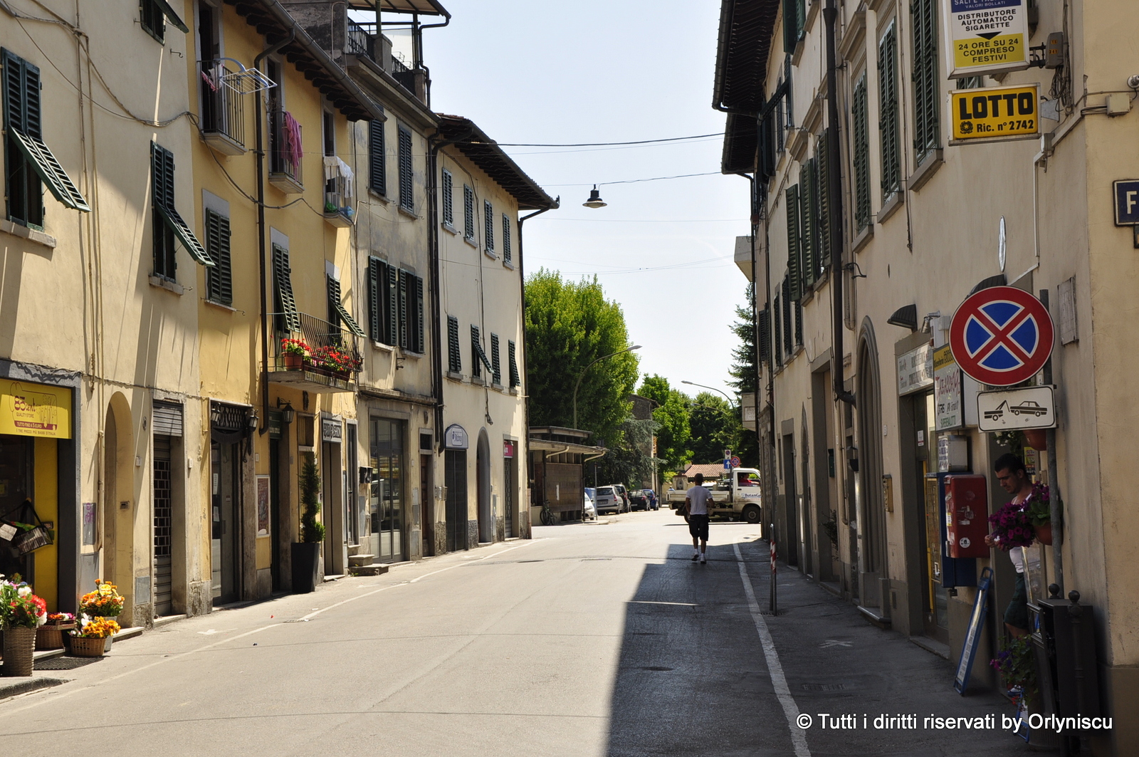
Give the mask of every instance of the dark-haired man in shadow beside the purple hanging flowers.
<path id="1" fill-rule="evenodd" d="M 1033 539 L 1025 511 L 1025 502 L 1032 494 L 1032 480 L 1024 461 L 1011 453 L 998 457 L 993 471 L 1001 488 L 1013 495 L 1013 500 L 989 518 L 993 532 L 985 536 L 985 544 L 1007 552 L 1016 568 L 1016 591 L 1005 610 L 1005 628 L 1019 638 L 1029 634 L 1029 592 L 1024 585 L 1024 553 L 1021 547 L 1031 545 Z"/>

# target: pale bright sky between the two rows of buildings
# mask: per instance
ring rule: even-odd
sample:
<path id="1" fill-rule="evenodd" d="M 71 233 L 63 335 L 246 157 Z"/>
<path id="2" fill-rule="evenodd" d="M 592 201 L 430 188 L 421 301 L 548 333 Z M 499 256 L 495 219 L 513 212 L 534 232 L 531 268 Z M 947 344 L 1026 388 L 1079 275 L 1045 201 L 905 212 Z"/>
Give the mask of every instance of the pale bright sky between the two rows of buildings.
<path id="1" fill-rule="evenodd" d="M 526 271 L 597 275 L 640 344 L 642 375 L 727 385 L 735 307 L 747 285 L 732 262 L 748 234 L 746 179 L 721 176 L 724 114 L 712 83 L 720 3 L 442 0 L 452 15 L 424 32 L 432 107 L 499 143 L 612 143 L 710 135 L 632 148 L 505 147 L 562 206 L 525 223 Z M 682 179 L 607 184 L 705 173 Z M 593 184 L 608 206 L 582 206 Z"/>

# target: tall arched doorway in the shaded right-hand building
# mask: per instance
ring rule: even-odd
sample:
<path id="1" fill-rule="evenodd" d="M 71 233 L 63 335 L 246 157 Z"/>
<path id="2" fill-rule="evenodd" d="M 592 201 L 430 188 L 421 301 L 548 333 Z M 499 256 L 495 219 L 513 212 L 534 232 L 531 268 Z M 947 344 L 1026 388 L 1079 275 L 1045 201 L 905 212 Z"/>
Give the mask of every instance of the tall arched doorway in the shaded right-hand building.
<path id="1" fill-rule="evenodd" d="M 882 382 L 878 347 L 869 320 L 862 325 L 858 348 L 858 534 L 860 536 L 859 596 L 865 607 L 885 613 L 882 581 L 886 570 L 886 523 L 882 502 Z"/>

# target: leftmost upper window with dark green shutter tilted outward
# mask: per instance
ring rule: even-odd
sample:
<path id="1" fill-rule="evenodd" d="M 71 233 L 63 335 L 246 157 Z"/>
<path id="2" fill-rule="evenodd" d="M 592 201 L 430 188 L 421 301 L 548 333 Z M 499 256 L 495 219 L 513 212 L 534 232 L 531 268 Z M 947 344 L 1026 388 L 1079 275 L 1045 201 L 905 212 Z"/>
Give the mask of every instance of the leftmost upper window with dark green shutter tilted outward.
<path id="1" fill-rule="evenodd" d="M 90 211 L 75 182 L 43 143 L 40 70 L 8 50 L 3 64 L 3 152 L 8 219 L 43 228 L 43 185 L 60 203 Z"/>

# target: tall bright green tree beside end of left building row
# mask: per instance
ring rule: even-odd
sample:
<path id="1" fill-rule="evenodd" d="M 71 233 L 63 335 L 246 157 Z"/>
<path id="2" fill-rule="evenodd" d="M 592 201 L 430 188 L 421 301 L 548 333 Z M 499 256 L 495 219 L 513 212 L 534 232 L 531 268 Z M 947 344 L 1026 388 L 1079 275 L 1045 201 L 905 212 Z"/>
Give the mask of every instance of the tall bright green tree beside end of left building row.
<path id="1" fill-rule="evenodd" d="M 621 306 L 605 299 L 597 277 L 571 282 L 540 269 L 526 279 L 526 381 L 531 425 L 574 425 L 615 443 L 629 417 L 637 385 L 637 356 L 630 347 Z"/>

